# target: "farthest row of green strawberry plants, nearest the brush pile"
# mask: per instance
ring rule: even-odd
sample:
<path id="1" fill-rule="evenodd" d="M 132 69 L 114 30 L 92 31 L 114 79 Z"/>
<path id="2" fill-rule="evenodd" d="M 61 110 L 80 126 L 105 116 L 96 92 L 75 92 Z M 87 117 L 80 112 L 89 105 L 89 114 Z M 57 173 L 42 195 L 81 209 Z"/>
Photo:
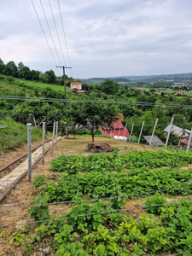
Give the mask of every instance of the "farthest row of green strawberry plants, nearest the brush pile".
<path id="1" fill-rule="evenodd" d="M 127 154 L 90 154 L 84 155 L 61 155 L 51 160 L 50 171 L 68 172 L 120 172 L 122 169 L 148 166 L 156 168 L 162 166 L 178 167 L 192 162 L 192 154 L 185 152 L 171 153 L 164 150 L 141 151 Z"/>

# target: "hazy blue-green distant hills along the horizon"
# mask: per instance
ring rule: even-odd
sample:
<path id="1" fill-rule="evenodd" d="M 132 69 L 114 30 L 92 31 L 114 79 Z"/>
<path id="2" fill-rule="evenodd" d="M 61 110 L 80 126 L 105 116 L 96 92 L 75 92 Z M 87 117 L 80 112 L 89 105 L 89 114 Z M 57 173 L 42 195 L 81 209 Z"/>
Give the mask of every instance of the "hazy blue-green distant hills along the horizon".
<path id="1" fill-rule="evenodd" d="M 192 73 L 177 73 L 177 74 L 160 74 L 160 75 L 149 75 L 149 76 L 121 76 L 111 78 L 93 78 L 93 79 L 79 79 L 84 84 L 101 84 L 107 79 L 112 79 L 113 82 L 129 82 L 129 81 L 141 81 L 148 83 L 155 83 L 160 81 L 167 82 L 182 82 L 192 81 Z"/>

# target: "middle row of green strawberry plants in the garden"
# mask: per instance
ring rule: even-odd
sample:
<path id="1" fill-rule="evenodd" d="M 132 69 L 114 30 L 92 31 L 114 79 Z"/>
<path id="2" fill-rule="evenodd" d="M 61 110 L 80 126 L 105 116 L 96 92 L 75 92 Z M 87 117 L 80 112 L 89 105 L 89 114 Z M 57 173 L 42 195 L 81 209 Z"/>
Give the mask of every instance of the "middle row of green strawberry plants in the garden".
<path id="1" fill-rule="evenodd" d="M 122 208 L 127 198 L 153 195 L 163 190 L 166 195 L 189 195 L 192 191 L 191 170 L 162 168 L 152 172 L 147 167 L 135 168 L 130 172 L 91 172 L 68 175 L 59 174 L 54 181 L 44 175 L 35 177 L 34 186 L 49 195 L 49 202 L 79 201 L 86 199 L 113 198 L 109 204 Z M 127 196 L 124 196 L 127 195 Z M 133 196 L 134 195 L 134 196 Z M 87 197 L 88 196 L 88 197 Z M 38 199 L 37 199 L 38 200 Z"/>

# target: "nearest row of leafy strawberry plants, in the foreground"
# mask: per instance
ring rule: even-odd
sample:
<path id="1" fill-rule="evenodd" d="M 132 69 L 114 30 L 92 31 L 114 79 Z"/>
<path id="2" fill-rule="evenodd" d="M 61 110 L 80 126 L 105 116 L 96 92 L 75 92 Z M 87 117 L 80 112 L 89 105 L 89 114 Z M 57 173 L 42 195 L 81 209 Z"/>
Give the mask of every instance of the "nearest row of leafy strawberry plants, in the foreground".
<path id="1" fill-rule="evenodd" d="M 38 224 L 33 236 L 29 235 L 31 229 L 26 227 L 12 234 L 9 242 L 22 247 L 23 255 L 31 255 L 44 237 L 49 237 L 49 246 L 56 256 L 152 256 L 164 252 L 181 255 L 190 252 L 191 203 L 183 199 L 172 205 L 154 206 L 160 202 L 166 203 L 166 200 L 159 195 L 148 198 L 145 204 L 148 214 L 140 216 L 113 212 L 108 208 L 108 202 L 97 202 L 91 206 L 84 202 L 57 218 L 51 218 L 48 211 L 49 221 Z M 6 231 L 1 234 L 6 238 Z"/>

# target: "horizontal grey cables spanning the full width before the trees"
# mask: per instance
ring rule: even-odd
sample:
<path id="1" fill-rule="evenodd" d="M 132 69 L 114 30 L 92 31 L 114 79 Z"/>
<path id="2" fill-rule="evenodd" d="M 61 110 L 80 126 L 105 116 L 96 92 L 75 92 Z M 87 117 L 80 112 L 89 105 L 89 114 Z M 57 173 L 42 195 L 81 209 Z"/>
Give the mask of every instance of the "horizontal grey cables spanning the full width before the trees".
<path id="1" fill-rule="evenodd" d="M 154 102 L 119 102 L 119 101 L 104 101 L 104 100 L 82 100 L 82 99 L 56 99 L 44 97 L 26 97 L 26 96 L 0 96 L 2 100 L 17 100 L 17 101 L 32 101 L 32 102 L 75 102 L 75 103 L 95 103 L 95 104 L 122 104 L 131 106 L 143 107 L 162 107 L 162 108 L 192 108 L 192 105 L 165 104 Z"/>

